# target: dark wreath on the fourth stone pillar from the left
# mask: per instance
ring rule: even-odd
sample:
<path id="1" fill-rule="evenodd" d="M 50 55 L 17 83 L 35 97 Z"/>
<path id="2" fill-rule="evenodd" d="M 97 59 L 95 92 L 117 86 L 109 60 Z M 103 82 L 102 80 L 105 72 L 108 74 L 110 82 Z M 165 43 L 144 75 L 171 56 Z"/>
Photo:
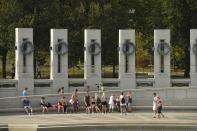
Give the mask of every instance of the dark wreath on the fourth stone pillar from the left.
<path id="1" fill-rule="evenodd" d="M 126 40 L 126 42 L 122 46 L 122 52 L 125 55 L 132 55 L 135 52 L 134 43 L 130 42 L 129 40 Z"/>

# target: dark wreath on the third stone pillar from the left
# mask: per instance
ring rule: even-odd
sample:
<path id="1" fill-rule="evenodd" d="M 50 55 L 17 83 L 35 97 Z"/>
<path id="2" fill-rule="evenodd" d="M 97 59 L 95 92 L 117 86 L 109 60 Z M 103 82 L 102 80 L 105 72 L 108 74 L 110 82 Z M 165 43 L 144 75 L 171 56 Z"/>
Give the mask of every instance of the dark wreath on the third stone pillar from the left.
<path id="1" fill-rule="evenodd" d="M 98 50 L 96 51 L 97 48 Z M 100 44 L 95 41 L 91 42 L 90 45 L 88 46 L 88 52 L 93 56 L 99 55 L 101 53 Z"/>

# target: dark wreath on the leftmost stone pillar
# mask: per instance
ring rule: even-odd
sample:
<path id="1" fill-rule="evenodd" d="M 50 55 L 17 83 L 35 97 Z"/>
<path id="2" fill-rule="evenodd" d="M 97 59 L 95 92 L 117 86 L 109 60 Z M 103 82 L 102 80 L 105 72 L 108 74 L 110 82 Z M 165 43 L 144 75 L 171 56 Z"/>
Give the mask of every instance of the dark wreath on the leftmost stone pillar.
<path id="1" fill-rule="evenodd" d="M 24 39 L 23 40 L 23 43 L 21 44 L 21 52 L 24 54 L 24 55 L 29 55 L 33 52 L 34 50 L 34 47 L 33 47 L 33 44 L 32 42 L 30 42 L 29 40 L 27 39 Z"/>

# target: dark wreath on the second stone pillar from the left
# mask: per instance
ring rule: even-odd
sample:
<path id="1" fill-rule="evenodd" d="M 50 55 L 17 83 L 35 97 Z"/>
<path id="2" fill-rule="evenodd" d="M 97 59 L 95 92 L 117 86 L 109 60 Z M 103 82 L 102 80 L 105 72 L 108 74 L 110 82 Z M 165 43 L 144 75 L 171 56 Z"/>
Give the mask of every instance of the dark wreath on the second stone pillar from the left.
<path id="1" fill-rule="evenodd" d="M 64 41 L 58 42 L 57 45 L 55 45 L 55 52 L 58 55 L 65 55 L 68 52 L 68 45 Z"/>

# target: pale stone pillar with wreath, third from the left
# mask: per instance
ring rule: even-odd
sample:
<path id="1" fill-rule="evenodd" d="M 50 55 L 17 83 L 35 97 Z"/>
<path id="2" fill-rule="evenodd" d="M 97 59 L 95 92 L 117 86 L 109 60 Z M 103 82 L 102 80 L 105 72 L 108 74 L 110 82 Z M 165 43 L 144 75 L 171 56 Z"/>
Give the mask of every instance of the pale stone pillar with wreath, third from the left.
<path id="1" fill-rule="evenodd" d="M 101 31 L 85 29 L 84 34 L 84 79 L 91 90 L 96 90 L 96 84 L 101 84 Z"/>

